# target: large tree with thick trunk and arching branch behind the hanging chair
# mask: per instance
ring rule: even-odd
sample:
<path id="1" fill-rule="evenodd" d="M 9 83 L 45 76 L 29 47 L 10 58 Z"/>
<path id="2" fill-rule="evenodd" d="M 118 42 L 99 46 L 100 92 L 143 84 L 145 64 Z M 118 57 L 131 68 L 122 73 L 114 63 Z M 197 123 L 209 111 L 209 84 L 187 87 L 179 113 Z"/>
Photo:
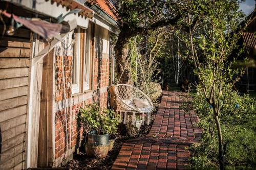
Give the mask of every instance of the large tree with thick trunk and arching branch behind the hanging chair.
<path id="1" fill-rule="evenodd" d="M 169 32 L 168 28 L 173 28 L 173 26 L 178 25 L 183 12 L 186 10 L 186 8 L 184 8 L 186 1 L 114 0 L 113 2 L 118 8 L 118 12 L 122 19 L 120 33 L 118 34 L 118 40 L 115 46 L 115 54 L 117 58 L 116 71 L 118 79 L 121 78 L 120 82 L 127 83 L 129 69 L 124 69 L 125 71 L 122 77 L 121 72 L 123 72 L 125 62 L 127 61 L 129 51 L 131 50 L 129 49 L 129 43 L 133 41 L 136 36 L 145 36 L 142 37 L 143 41 L 151 43 L 151 37 L 147 37 L 148 35 L 157 35 L 157 37 L 159 37 L 159 33 L 161 34 L 160 36 L 162 38 L 160 39 L 163 39 L 163 41 L 155 41 L 155 38 L 153 38 L 153 42 L 159 42 L 156 43 L 156 48 L 154 48 L 154 43 L 145 44 L 144 46 L 145 51 L 143 55 L 146 54 L 146 59 L 150 60 L 150 62 L 148 62 L 148 67 L 151 68 L 155 58 L 160 55 L 159 47 L 161 47 L 165 41 L 164 39 L 168 38 L 168 36 L 164 36 L 165 34 L 162 33 L 161 29 L 163 29 L 163 32 Z M 156 38 L 156 40 L 157 39 L 158 38 Z M 147 51 L 148 47 L 154 52 Z"/>

